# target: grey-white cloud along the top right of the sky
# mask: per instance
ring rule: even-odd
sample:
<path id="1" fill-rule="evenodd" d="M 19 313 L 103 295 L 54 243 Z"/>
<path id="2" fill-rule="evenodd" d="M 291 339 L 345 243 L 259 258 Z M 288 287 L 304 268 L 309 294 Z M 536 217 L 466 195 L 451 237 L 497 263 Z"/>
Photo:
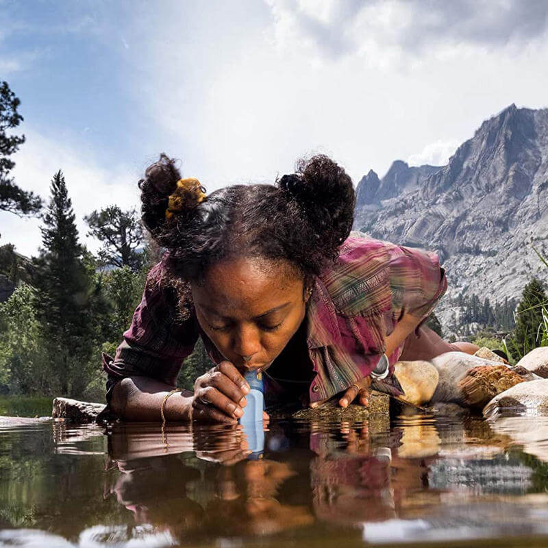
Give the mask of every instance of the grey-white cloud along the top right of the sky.
<path id="1" fill-rule="evenodd" d="M 386 66 L 463 46 L 498 49 L 546 36 L 544 0 L 265 0 L 280 49 L 339 58 L 358 53 Z"/>

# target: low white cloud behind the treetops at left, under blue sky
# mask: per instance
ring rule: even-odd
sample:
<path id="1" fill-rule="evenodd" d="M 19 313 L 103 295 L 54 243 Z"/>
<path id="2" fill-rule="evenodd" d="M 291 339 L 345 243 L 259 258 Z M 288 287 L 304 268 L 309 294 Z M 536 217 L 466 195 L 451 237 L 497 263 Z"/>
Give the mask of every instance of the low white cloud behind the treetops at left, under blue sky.
<path id="1" fill-rule="evenodd" d="M 49 186 L 53 174 L 59 169 L 64 174 L 69 197 L 73 203 L 80 240 L 88 249 L 99 247 L 97 240 L 86 236 L 87 225 L 82 217 L 92 210 L 116 204 L 123 209 L 138 206 L 137 181 L 140 167 L 113 166 L 102 169 L 95 162 L 91 151 L 85 147 L 47 138 L 25 127 L 27 138 L 20 151 L 13 156 L 16 166 L 12 171 L 16 184 L 24 190 L 32 190 L 49 200 Z M 40 219 L 21 219 L 0 211 L 0 245 L 12 243 L 23 255 L 36 255 L 41 245 Z"/>

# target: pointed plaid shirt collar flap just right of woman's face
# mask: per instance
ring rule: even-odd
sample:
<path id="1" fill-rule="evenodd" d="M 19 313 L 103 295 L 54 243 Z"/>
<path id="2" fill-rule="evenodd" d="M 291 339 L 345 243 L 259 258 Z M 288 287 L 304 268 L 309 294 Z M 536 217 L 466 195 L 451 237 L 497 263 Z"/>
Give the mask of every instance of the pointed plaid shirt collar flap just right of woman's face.
<path id="1" fill-rule="evenodd" d="M 335 306 L 325 285 L 317 276 L 308 301 L 306 318 L 308 320 L 306 341 L 309 348 L 341 344 Z"/>

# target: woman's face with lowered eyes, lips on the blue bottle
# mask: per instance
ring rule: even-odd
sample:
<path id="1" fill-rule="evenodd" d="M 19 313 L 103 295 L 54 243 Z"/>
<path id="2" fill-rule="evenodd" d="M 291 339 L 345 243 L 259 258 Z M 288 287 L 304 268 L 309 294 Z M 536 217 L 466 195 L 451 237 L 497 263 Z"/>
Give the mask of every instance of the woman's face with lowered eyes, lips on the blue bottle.
<path id="1" fill-rule="evenodd" d="M 201 328 L 238 369 L 264 371 L 301 325 L 303 280 L 291 271 L 279 262 L 234 258 L 211 266 L 205 284 L 192 284 Z"/>

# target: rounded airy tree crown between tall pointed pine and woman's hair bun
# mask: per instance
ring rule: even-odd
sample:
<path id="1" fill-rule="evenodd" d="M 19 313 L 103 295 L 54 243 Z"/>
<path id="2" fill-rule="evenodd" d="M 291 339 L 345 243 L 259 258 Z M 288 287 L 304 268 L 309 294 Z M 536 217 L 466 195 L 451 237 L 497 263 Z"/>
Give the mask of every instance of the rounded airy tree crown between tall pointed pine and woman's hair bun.
<path id="1" fill-rule="evenodd" d="M 90 227 L 88 236 L 103 243 L 99 259 L 103 266 L 128 266 L 138 271 L 143 263 L 136 250 L 142 242 L 142 227 L 136 210 L 122 211 L 118 206 L 96 210 L 84 217 Z"/>

